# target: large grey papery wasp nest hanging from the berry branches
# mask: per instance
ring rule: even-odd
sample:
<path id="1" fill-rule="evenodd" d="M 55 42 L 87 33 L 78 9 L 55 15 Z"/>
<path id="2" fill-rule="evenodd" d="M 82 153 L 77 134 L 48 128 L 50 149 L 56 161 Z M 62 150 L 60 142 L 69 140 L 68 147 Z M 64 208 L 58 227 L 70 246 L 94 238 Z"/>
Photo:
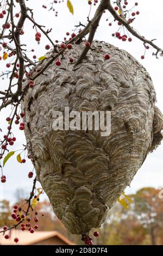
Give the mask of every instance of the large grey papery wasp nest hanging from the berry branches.
<path id="1" fill-rule="evenodd" d="M 68 54 L 76 60 L 83 47 L 74 45 Z M 37 180 L 73 234 L 87 234 L 105 221 L 162 139 L 162 114 L 155 107 L 155 90 L 145 68 L 126 51 L 104 42 L 94 41 L 91 48 L 76 68 L 67 55 L 61 66 L 52 63 L 22 102 Z M 70 112 L 111 111 L 110 136 L 95 130 L 54 131 L 53 113 L 64 113 L 65 107 Z"/>

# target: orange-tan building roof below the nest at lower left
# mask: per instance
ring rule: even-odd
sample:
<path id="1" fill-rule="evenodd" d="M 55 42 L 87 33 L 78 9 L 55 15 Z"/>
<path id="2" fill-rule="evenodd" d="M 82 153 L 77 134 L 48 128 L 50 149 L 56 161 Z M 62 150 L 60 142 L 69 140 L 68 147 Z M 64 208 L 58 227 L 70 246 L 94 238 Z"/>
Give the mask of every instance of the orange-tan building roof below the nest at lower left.
<path id="1" fill-rule="evenodd" d="M 6 234 L 8 234 L 7 231 Z M 15 230 L 12 229 L 10 231 L 10 238 L 5 239 L 3 233 L 0 233 L 0 245 L 34 245 L 34 243 L 46 240 L 53 236 L 58 236 L 59 239 L 67 243 L 67 245 L 74 245 L 70 240 L 68 240 L 65 236 L 61 235 L 58 231 L 35 231 L 31 234 L 28 230 Z M 14 238 L 18 238 L 18 243 L 14 242 Z"/>

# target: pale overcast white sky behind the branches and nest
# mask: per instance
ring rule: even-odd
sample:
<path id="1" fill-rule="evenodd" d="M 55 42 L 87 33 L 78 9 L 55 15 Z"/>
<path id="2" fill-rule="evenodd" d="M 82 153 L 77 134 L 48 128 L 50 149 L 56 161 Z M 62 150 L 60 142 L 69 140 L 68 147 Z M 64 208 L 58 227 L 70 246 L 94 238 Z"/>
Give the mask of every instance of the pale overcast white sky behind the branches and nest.
<path id="1" fill-rule="evenodd" d="M 27 5 L 34 9 L 34 17 L 35 21 L 40 25 L 45 25 L 46 28 L 52 28 L 51 38 L 53 40 L 58 39 L 62 41 L 66 32 L 72 32 L 75 25 L 78 25 L 79 21 L 86 24 L 86 17 L 89 13 L 89 6 L 87 4 L 87 0 L 71 0 L 74 7 L 74 15 L 71 15 L 68 12 L 65 3 L 57 4 L 56 10 L 58 11 L 58 17 L 55 17 L 53 11 L 47 11 L 42 8 L 42 4 L 48 4 L 52 2 L 51 0 L 29 0 L 26 1 Z M 128 1 L 131 6 L 134 5 L 135 1 Z M 152 40 L 156 39 L 155 43 L 163 48 L 162 42 L 162 9 L 163 9 L 163 1 L 149 1 L 149 0 L 141 0 L 138 1 L 139 5 L 135 8 L 135 10 L 140 11 L 140 15 L 137 16 L 136 21 L 134 22 L 134 28 L 140 32 L 141 35 L 144 35 L 147 39 Z M 91 15 L 96 8 L 92 8 Z M 115 45 L 119 48 L 127 50 L 131 53 L 149 72 L 153 79 L 153 84 L 156 90 L 157 95 L 157 106 L 163 112 L 163 88 L 162 88 L 162 68 L 163 68 L 163 57 L 156 59 L 152 56 L 153 50 L 150 49 L 147 51 L 145 59 L 141 60 L 141 55 L 144 53 L 144 47 L 141 41 L 133 38 L 133 42 L 122 42 L 118 39 L 112 38 L 111 34 L 116 32 L 117 26 L 113 25 L 111 27 L 108 26 L 108 23 L 113 19 L 112 17 L 107 22 L 106 19 L 110 17 L 108 11 L 103 15 L 103 19 L 100 23 L 98 31 L 95 35 L 95 39 L 103 40 L 109 42 L 112 45 Z M 2 26 L 2 21 L 0 21 L 0 25 Z M 46 38 L 41 38 L 41 44 L 37 46 L 35 41 L 35 31 L 32 28 L 32 25 L 29 22 L 26 22 L 24 26 L 24 35 L 22 35 L 22 41 L 24 44 L 27 44 L 28 50 L 34 48 L 35 54 L 37 57 L 42 56 L 46 53 L 45 45 L 48 43 Z M 29 56 L 32 56 L 30 52 Z M 1 68 L 3 66 L 1 61 Z M 7 81 L 1 80 L 1 88 L 7 85 Z M 3 129 L 3 134 L 5 133 L 7 122 L 5 123 L 5 118 L 7 117 L 7 109 L 4 109 L 0 114 L 1 120 L 1 128 Z M 14 128 L 17 143 L 10 150 L 21 149 L 22 144 L 26 143 L 23 132 L 18 130 L 18 126 Z M 11 147 L 10 147 L 11 148 Z M 127 193 L 133 193 L 139 188 L 146 186 L 153 187 L 163 187 L 163 171 L 162 171 L 162 149 L 163 145 L 161 144 L 158 149 L 154 151 L 154 153 L 147 156 L 145 163 L 141 169 L 135 175 L 134 180 L 131 182 L 131 187 L 127 188 Z M 14 192 L 17 188 L 23 188 L 24 191 L 30 192 L 32 188 L 32 180 L 27 178 L 28 172 L 32 170 L 32 164 L 30 161 L 27 161 L 26 164 L 20 164 L 16 161 L 15 156 L 10 159 L 4 168 L 4 174 L 7 176 L 7 182 L 5 184 L 0 184 L 0 199 L 9 199 L 14 200 L 15 195 Z"/>

